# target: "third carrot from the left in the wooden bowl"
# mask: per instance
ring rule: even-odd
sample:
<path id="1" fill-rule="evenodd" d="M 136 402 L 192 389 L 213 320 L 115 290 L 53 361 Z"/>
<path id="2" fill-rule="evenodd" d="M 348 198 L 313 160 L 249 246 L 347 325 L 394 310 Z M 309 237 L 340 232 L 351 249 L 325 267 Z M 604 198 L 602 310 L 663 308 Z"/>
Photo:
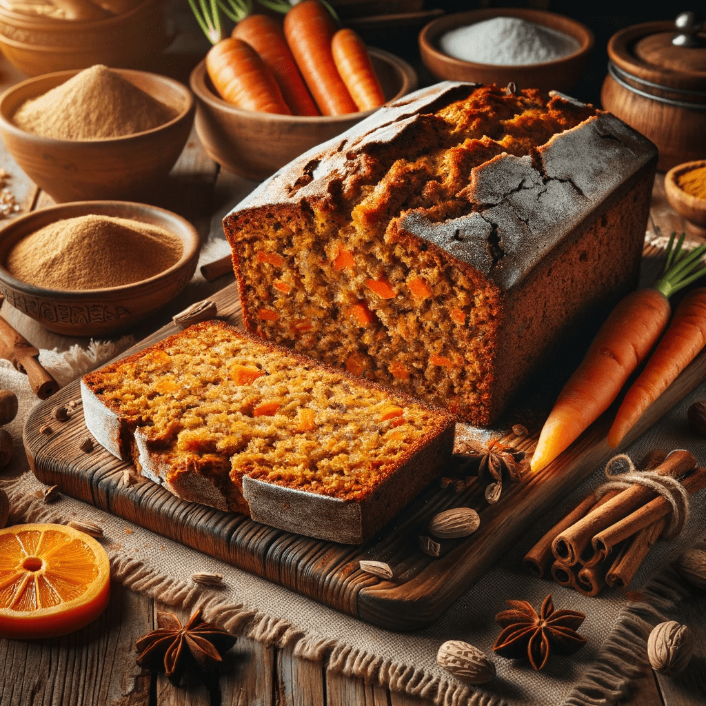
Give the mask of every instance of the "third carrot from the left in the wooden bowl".
<path id="1" fill-rule="evenodd" d="M 318 0 L 304 0 L 285 15 L 285 37 L 322 115 L 358 112 L 331 54 L 336 25 Z"/>

